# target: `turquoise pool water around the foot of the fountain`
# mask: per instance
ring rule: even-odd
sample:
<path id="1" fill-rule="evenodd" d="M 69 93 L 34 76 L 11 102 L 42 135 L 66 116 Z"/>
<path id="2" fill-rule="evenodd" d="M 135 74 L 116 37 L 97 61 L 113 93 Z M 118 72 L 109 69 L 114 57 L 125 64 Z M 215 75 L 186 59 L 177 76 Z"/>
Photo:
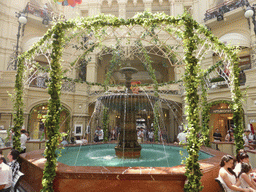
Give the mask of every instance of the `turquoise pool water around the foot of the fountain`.
<path id="1" fill-rule="evenodd" d="M 176 146 L 142 144 L 141 157 L 120 159 L 115 155 L 116 144 L 65 147 L 58 161 L 70 166 L 109 166 L 109 167 L 173 167 L 181 165 L 187 156 L 186 149 Z M 180 155 L 183 152 L 183 156 Z M 212 157 L 200 151 L 199 160 Z"/>

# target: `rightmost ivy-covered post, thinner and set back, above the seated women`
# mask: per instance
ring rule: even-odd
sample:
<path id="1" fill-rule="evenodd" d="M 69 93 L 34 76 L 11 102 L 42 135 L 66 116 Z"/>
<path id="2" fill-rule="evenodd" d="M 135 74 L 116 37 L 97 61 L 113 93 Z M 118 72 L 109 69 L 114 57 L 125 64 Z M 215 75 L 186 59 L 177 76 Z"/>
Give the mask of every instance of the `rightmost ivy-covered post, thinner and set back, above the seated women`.
<path id="1" fill-rule="evenodd" d="M 240 90 L 239 82 L 239 63 L 238 56 L 234 52 L 231 55 L 231 64 L 229 65 L 230 69 L 230 89 L 231 89 L 231 99 L 233 101 L 233 121 L 234 121 L 234 136 L 235 136 L 235 145 L 236 153 L 244 148 L 243 132 L 244 132 L 244 113 L 242 107 L 242 93 Z"/>

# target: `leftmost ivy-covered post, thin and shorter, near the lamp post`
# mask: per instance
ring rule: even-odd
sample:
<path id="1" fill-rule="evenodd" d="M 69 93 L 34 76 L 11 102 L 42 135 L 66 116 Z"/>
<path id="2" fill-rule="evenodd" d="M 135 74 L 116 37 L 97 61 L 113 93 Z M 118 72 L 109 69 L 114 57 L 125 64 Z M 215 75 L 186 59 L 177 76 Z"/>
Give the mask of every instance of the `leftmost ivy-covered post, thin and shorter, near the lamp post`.
<path id="1" fill-rule="evenodd" d="M 17 74 L 15 79 L 15 104 L 14 104 L 14 137 L 13 137 L 13 148 L 17 149 L 21 152 L 20 147 L 20 130 L 24 122 L 24 116 L 23 116 L 23 77 L 24 77 L 24 57 L 18 58 L 18 68 L 17 68 Z"/>

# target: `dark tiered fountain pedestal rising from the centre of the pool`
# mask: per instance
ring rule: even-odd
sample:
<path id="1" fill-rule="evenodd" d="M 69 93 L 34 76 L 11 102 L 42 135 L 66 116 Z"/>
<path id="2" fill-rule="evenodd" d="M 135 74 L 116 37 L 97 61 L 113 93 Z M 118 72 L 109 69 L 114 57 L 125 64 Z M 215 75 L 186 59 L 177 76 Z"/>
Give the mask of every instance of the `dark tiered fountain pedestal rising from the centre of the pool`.
<path id="1" fill-rule="evenodd" d="M 137 141 L 136 131 L 136 112 L 137 106 L 134 105 L 135 100 L 147 100 L 145 95 L 135 95 L 131 90 L 132 74 L 137 73 L 137 69 L 133 67 L 124 67 L 120 69 L 120 72 L 125 75 L 126 94 L 120 95 L 121 102 L 114 108 L 111 103 L 107 101 L 111 97 L 102 96 L 99 98 L 104 106 L 118 110 L 120 114 L 121 124 L 124 125 L 121 128 L 119 143 L 115 147 L 116 156 L 120 158 L 138 158 L 140 157 L 141 146 Z"/>

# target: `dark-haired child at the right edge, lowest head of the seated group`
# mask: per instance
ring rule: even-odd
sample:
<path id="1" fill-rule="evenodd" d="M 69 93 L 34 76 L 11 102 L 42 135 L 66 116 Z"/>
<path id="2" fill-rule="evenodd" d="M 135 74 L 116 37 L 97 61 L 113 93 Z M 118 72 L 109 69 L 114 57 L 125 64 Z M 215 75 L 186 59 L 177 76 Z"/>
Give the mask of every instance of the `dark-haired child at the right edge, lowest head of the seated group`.
<path id="1" fill-rule="evenodd" d="M 251 178 L 252 167 L 249 163 L 242 163 L 241 172 L 238 174 L 238 178 L 241 182 L 242 188 L 251 188 L 256 192 L 256 183 Z"/>

